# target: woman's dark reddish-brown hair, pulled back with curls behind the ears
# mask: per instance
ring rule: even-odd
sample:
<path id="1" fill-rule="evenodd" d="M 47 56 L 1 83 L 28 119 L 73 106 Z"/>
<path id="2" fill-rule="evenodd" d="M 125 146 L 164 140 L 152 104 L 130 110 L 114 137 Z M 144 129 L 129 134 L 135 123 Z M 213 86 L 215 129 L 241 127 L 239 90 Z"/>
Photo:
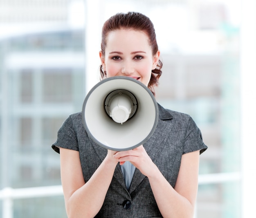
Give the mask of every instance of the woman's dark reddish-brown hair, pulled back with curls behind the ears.
<path id="1" fill-rule="evenodd" d="M 134 29 L 143 31 L 148 35 L 149 44 L 152 48 L 152 53 L 155 55 L 158 51 L 158 45 L 155 35 L 154 25 L 151 20 L 145 15 L 138 12 L 117 13 L 110 17 L 103 25 L 101 34 L 101 52 L 105 56 L 106 38 L 108 33 L 117 29 Z M 162 75 L 162 62 L 159 60 L 157 67 L 152 70 L 148 88 L 154 93 L 154 86 L 158 85 L 159 77 Z M 106 78 L 106 71 L 103 71 L 102 65 L 100 66 L 101 80 Z"/>

